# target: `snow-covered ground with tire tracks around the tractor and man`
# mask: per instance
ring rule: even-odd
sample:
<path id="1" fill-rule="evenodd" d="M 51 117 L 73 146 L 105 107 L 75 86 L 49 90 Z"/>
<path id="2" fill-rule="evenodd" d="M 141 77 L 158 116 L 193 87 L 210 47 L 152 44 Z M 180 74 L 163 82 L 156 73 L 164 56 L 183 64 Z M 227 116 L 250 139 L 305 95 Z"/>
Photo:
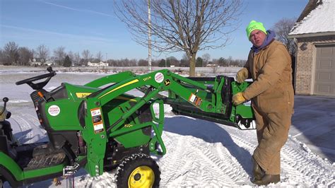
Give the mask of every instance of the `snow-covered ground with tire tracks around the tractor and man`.
<path id="1" fill-rule="evenodd" d="M 235 75 L 234 71 L 229 71 L 228 76 Z M 15 85 L 16 81 L 38 74 L 24 69 L 0 69 L 0 97 L 10 98 L 11 124 L 20 143 L 47 141 L 30 102 L 32 89 Z M 105 75 L 57 73 L 45 88 L 51 90 L 61 82 L 83 84 Z M 170 110 L 166 105 L 163 141 L 167 154 L 155 157 L 161 170 L 161 187 L 254 186 L 250 182 L 250 158 L 257 146 L 254 130 L 240 131 L 223 124 L 176 116 Z M 334 117 L 334 98 L 295 96 L 290 136 L 281 150 L 281 182 L 270 187 L 335 187 Z M 57 187 L 71 187 L 72 183 L 62 179 Z M 90 177 L 80 170 L 74 177 L 74 186 L 114 187 L 114 172 Z M 47 180 L 27 187 L 55 185 Z"/>

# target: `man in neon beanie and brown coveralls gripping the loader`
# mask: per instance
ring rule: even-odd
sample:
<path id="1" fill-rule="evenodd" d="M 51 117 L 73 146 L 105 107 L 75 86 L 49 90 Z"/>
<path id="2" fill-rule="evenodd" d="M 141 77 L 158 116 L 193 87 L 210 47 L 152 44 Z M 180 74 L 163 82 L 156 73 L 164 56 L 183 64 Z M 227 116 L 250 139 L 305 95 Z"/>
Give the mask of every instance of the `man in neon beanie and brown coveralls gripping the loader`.
<path id="1" fill-rule="evenodd" d="M 243 69 L 237 72 L 238 83 L 254 81 L 244 92 L 233 96 L 233 104 L 252 100 L 256 117 L 258 146 L 252 155 L 254 184 L 280 181 L 281 148 L 288 139 L 293 114 L 293 86 L 290 54 L 277 40 L 274 31 L 252 20 L 247 37 L 252 49 Z"/>

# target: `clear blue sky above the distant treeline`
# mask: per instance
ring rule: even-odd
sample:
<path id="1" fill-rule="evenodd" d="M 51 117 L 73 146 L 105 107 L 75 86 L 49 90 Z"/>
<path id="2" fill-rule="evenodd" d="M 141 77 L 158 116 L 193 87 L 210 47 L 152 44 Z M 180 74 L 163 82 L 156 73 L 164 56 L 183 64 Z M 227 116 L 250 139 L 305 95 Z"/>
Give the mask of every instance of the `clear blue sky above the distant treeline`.
<path id="1" fill-rule="evenodd" d="M 281 18 L 298 18 L 308 0 L 259 0 L 244 1 L 245 11 L 240 17 L 240 28 L 231 33 L 230 45 L 221 49 L 200 51 L 197 56 L 208 53 L 211 58 L 233 57 L 247 59 L 250 42 L 245 27 L 250 20 L 264 23 L 271 28 Z M 0 48 L 7 42 L 16 42 L 20 47 L 35 49 L 46 45 L 52 55 L 53 49 L 63 46 L 65 51 L 81 52 L 89 49 L 95 56 L 102 52 L 108 59 L 146 59 L 148 49 L 131 40 L 124 23 L 114 16 L 112 0 L 0 0 Z M 159 54 L 153 59 L 175 56 L 183 52 Z"/>

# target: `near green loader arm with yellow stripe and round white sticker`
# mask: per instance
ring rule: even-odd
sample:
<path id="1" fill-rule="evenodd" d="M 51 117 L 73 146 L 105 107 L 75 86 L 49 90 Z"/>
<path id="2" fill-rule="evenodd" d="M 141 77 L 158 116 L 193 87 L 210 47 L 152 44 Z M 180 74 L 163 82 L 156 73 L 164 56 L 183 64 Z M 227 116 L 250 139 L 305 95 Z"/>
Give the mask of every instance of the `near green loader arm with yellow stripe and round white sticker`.
<path id="1" fill-rule="evenodd" d="M 160 76 L 161 78 L 155 78 L 157 76 Z M 118 74 L 113 78 L 117 77 Z M 199 108 L 204 112 L 216 112 L 215 100 L 204 100 L 199 96 L 196 96 L 188 88 L 182 86 L 179 82 L 183 81 L 184 83 L 188 83 L 189 85 L 195 86 L 196 88 L 208 90 L 208 93 L 211 93 L 209 88 L 201 83 L 197 83 L 196 81 L 192 81 L 177 74 L 173 74 L 168 70 L 154 71 L 150 74 L 144 74 L 141 76 L 130 75 L 129 77 L 130 78 L 126 80 L 121 79 L 123 81 L 99 90 L 96 93 L 92 93 L 86 99 L 87 104 L 92 105 L 93 108 L 102 107 L 114 98 L 117 98 L 117 96 L 127 93 L 129 90 L 134 88 L 141 88 L 142 86 L 148 86 L 148 88 L 151 88 L 147 90 L 146 95 L 144 95 L 141 100 L 139 100 L 136 105 L 134 105 L 134 107 L 131 107 L 129 111 L 124 112 L 124 115 L 122 115 L 122 117 L 120 117 L 116 122 L 110 122 L 110 127 L 107 128 L 107 131 L 115 131 L 118 129 L 120 126 L 122 126 L 122 124 L 124 124 L 125 119 L 131 116 L 131 114 L 133 114 L 136 110 L 139 110 L 139 108 L 146 104 L 149 100 L 155 98 L 155 96 L 158 95 L 158 93 L 161 91 L 171 90 L 173 93 L 175 93 L 175 95 L 180 96 L 183 100 L 189 102 L 190 104 L 194 105 L 194 107 Z M 116 79 L 110 79 L 110 81 L 117 82 Z M 107 81 L 105 80 L 102 83 L 106 84 Z M 93 84 L 88 83 L 86 86 L 93 86 Z"/>

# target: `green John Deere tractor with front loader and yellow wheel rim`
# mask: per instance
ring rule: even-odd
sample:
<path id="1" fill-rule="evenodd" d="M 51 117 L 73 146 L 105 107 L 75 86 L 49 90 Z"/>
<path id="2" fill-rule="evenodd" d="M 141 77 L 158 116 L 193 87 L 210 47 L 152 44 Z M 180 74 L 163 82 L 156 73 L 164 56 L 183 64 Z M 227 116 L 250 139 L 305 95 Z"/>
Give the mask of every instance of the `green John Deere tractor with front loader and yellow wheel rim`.
<path id="1" fill-rule="evenodd" d="M 117 168 L 118 187 L 158 187 L 160 170 L 151 155 L 166 153 L 161 137 L 164 104 L 176 114 L 254 129 L 250 104 L 231 102 L 249 83 L 238 84 L 227 76 L 184 78 L 168 70 L 138 76 L 124 71 L 47 91 L 43 87 L 56 75 L 51 67 L 47 71 L 16 85 L 33 88 L 30 97 L 48 142 L 18 144 L 6 120 L 11 116 L 8 98 L 0 107 L 0 187 L 4 182 L 18 187 L 71 176 L 81 168 L 92 177 Z M 133 89 L 143 96 L 127 94 Z"/>

